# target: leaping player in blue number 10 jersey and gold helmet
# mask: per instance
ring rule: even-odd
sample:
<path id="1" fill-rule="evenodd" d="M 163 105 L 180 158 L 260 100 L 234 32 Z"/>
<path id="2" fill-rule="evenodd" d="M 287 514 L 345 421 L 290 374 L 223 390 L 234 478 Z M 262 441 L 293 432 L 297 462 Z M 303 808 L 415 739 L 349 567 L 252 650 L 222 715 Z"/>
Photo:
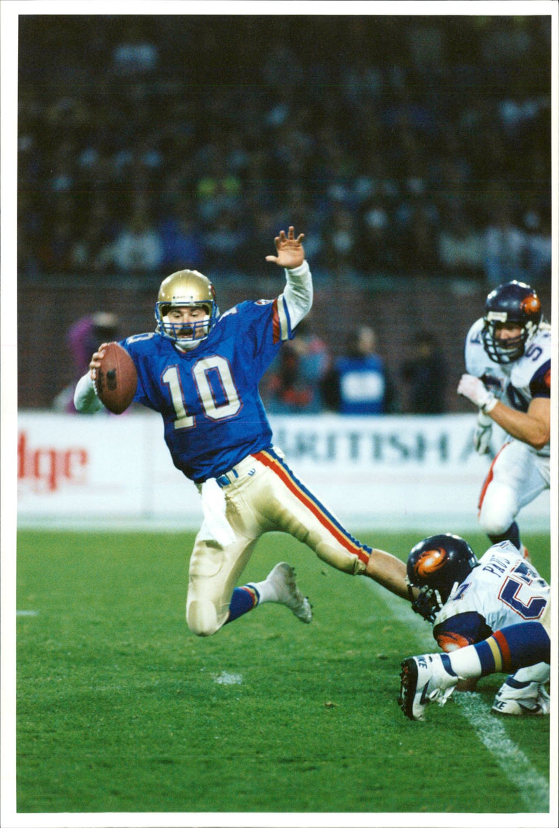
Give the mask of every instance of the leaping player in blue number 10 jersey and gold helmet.
<path id="1" fill-rule="evenodd" d="M 308 599 L 284 562 L 259 583 L 236 586 L 264 532 L 288 532 L 336 569 L 367 575 L 408 599 L 404 562 L 351 537 L 272 444 L 258 385 L 313 301 L 303 233 L 280 231 L 275 248 L 266 260 L 284 268 L 286 283 L 274 300 L 244 301 L 220 315 L 207 277 L 175 272 L 161 283 L 155 332 L 120 343 L 136 365 L 135 401 L 160 412 L 174 465 L 202 497 L 186 604 L 189 628 L 200 636 L 265 602 L 311 621 Z M 76 387 L 79 411 L 102 407 L 94 378 L 105 347 Z"/>

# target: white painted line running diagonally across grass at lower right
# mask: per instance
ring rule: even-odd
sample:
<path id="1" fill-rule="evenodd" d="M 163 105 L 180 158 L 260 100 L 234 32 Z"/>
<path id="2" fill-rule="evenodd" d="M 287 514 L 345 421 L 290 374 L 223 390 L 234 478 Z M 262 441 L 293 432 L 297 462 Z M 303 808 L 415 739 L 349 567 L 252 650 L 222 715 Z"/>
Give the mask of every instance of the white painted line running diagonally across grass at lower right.
<path id="1" fill-rule="evenodd" d="M 385 604 L 387 614 L 393 618 L 402 618 L 399 613 L 401 604 L 394 600 L 388 590 L 385 590 L 374 581 L 364 579 L 365 585 L 375 592 L 376 597 Z M 431 626 L 419 615 L 413 614 L 408 609 L 410 646 L 408 652 L 402 653 L 402 658 L 418 655 L 423 652 L 439 652 L 434 638 L 432 638 Z M 413 642 L 418 642 L 415 647 Z M 396 681 L 396 678 L 394 678 Z M 528 812 L 547 811 L 549 809 L 549 780 L 543 777 L 533 767 L 529 759 L 524 755 L 518 744 L 509 739 L 504 724 L 495 715 L 491 715 L 490 708 L 475 693 L 455 693 L 452 698 L 460 707 L 462 715 L 470 722 L 478 739 L 485 745 L 495 758 L 495 762 L 509 779 L 526 805 Z"/>

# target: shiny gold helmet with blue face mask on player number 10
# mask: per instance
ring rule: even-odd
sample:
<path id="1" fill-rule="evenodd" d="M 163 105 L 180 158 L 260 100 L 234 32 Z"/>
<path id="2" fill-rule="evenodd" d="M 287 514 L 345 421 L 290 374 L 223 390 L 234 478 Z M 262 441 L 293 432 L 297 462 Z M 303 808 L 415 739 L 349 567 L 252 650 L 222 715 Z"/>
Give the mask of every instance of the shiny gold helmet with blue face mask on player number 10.
<path id="1" fill-rule="evenodd" d="M 173 307 L 203 307 L 206 315 L 203 320 L 176 323 L 169 319 Z M 155 302 L 155 331 L 182 347 L 192 347 L 206 339 L 217 322 L 216 291 L 212 282 L 197 270 L 178 270 L 161 282 L 157 301 Z"/>

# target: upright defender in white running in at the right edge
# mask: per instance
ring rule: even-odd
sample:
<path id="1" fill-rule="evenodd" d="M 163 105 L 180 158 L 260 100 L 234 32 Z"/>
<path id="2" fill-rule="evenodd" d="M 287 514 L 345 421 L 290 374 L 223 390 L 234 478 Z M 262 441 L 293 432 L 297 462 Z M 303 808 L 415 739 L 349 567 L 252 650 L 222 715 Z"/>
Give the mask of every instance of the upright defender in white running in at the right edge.
<path id="1" fill-rule="evenodd" d="M 457 391 L 479 409 L 475 449 L 489 450 L 493 422 L 509 435 L 480 493 L 480 527 L 491 542 L 508 540 L 527 554 L 516 517 L 550 479 L 551 329 L 536 291 L 523 282 L 491 291 L 465 356 Z"/>

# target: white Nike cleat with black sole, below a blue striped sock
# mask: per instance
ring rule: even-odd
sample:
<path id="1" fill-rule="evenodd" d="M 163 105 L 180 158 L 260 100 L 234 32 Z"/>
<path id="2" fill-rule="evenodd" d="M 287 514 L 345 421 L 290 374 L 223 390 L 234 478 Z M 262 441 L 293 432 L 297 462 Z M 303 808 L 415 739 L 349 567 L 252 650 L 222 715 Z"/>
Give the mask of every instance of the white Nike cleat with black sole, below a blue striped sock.
<path id="1" fill-rule="evenodd" d="M 444 705 L 458 683 L 458 676 L 445 670 L 437 653 L 406 658 L 400 679 L 398 704 L 408 719 L 417 721 L 424 718 L 425 708 L 432 701 Z"/>

